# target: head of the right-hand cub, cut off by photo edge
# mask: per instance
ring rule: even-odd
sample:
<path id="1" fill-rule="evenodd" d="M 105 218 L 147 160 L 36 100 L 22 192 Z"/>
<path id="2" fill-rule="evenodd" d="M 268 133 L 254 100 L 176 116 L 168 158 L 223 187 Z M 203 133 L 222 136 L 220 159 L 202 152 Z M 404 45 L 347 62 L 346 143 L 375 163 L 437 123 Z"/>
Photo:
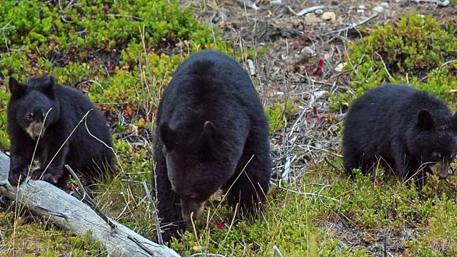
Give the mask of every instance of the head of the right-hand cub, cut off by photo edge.
<path id="1" fill-rule="evenodd" d="M 408 141 L 411 154 L 440 178 L 448 176 L 449 164 L 457 155 L 457 140 L 454 136 L 451 121 L 437 121 L 427 110 L 418 115 L 416 133 Z"/>

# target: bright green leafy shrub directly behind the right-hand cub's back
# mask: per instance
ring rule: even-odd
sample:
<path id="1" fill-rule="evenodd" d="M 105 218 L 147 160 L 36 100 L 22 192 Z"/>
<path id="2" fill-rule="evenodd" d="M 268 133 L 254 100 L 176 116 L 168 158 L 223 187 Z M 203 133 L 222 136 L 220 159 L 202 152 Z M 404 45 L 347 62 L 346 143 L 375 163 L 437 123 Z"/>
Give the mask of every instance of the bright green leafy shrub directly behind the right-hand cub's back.
<path id="1" fill-rule="evenodd" d="M 331 96 L 333 108 L 347 108 L 363 92 L 383 83 L 406 83 L 456 101 L 456 64 L 445 64 L 457 56 L 457 27 L 441 28 L 431 15 L 411 12 L 400 21 L 378 26 L 369 36 L 348 45 L 353 94 Z M 428 80 L 427 80 L 428 77 Z"/>

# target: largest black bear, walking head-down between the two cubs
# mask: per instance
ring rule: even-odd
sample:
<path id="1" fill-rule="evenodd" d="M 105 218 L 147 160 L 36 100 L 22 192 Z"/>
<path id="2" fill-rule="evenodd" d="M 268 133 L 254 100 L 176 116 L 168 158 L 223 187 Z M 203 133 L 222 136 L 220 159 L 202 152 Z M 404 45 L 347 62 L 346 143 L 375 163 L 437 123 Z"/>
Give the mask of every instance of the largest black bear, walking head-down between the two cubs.
<path id="1" fill-rule="evenodd" d="M 261 210 L 272 167 L 268 119 L 240 64 L 219 51 L 192 54 L 166 86 L 156 126 L 153 187 L 164 241 L 180 238 L 219 189 L 242 213 Z"/>

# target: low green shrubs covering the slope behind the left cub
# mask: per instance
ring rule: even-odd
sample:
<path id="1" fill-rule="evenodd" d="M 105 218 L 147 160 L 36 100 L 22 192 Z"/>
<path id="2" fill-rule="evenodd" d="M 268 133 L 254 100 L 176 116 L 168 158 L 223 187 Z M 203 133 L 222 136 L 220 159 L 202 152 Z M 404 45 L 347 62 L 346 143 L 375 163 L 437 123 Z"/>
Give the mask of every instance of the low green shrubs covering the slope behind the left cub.
<path id="1" fill-rule="evenodd" d="M 0 45 L 4 84 L 11 75 L 23 81 L 51 74 L 61 84 L 87 91 L 106 115 L 119 111 L 137 125 L 153 120 L 163 86 L 184 59 L 164 53 L 176 53 L 176 48 L 185 53 L 229 50 L 219 29 L 196 21 L 191 9 L 180 9 L 176 0 L 91 0 L 60 6 L 58 1 L 6 1 L 0 4 L 0 27 L 6 38 Z M 6 109 L 8 99 L 9 91 L 3 91 L 0 109 Z M 4 111 L 0 118 L 0 149 L 6 151 Z"/>

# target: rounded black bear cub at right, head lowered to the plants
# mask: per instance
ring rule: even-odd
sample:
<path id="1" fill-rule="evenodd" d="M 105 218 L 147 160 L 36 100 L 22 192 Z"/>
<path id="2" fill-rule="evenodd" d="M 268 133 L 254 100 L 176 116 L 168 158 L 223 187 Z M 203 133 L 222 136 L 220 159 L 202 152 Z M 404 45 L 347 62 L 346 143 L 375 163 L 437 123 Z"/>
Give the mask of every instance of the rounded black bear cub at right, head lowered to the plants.
<path id="1" fill-rule="evenodd" d="M 448 176 L 456 156 L 457 113 L 412 86 L 386 84 L 354 100 L 343 129 L 343 165 L 363 173 L 381 163 L 423 185 L 426 172 Z"/>

